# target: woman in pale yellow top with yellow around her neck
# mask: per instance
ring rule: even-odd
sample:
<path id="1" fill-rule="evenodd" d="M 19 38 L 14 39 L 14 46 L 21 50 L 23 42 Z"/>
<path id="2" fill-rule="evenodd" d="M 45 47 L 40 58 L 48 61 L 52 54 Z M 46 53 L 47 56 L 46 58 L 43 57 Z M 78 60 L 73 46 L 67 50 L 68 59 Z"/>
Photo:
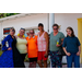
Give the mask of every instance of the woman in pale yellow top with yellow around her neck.
<path id="1" fill-rule="evenodd" d="M 22 60 L 24 62 L 25 56 L 27 55 L 27 40 L 24 36 L 25 28 L 21 28 L 19 36 L 16 36 L 16 48 L 20 51 Z"/>

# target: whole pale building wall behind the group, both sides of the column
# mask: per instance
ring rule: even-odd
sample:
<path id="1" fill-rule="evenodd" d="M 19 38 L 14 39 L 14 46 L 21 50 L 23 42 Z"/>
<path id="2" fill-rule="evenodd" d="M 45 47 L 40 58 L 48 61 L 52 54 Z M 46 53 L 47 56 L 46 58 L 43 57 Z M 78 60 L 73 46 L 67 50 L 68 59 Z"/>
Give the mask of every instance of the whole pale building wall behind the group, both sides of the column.
<path id="1" fill-rule="evenodd" d="M 78 20 L 79 17 L 82 17 L 82 13 L 55 13 L 55 23 L 58 23 L 61 25 L 60 32 L 63 32 L 65 35 L 66 28 L 68 26 L 72 26 L 74 30 L 75 35 L 78 36 Z M 16 31 L 15 34 L 19 33 L 21 27 L 34 27 L 37 26 L 38 23 L 44 23 L 45 31 L 48 32 L 48 13 L 37 13 L 35 15 L 31 16 L 25 16 L 25 17 L 19 17 L 15 20 L 7 20 L 3 21 L 2 23 L 2 28 L 1 28 L 1 23 L 0 23 L 0 40 L 3 37 L 3 28 L 4 27 L 11 27 L 13 26 Z"/>

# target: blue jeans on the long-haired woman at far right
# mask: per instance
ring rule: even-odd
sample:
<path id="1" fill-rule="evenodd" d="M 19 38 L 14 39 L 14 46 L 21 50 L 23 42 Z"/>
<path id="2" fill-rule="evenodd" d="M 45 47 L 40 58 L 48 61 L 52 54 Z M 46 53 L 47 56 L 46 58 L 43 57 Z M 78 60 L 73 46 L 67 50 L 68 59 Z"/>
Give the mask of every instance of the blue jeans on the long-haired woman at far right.
<path id="1" fill-rule="evenodd" d="M 77 54 L 71 54 L 71 56 L 67 56 L 68 68 L 72 68 L 73 61 L 74 68 L 80 68 L 80 56 L 77 56 Z"/>

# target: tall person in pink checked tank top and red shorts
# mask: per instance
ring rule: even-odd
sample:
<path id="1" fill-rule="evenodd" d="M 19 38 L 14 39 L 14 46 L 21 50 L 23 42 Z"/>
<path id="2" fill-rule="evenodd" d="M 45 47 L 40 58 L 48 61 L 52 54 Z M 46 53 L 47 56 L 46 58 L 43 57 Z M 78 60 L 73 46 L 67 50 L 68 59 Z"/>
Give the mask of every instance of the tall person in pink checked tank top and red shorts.
<path id="1" fill-rule="evenodd" d="M 37 45 L 38 45 L 37 62 L 40 68 L 47 68 L 49 37 L 48 33 L 44 31 L 44 25 L 42 23 L 38 24 L 38 30 L 39 33 L 37 38 Z M 44 66 L 42 63 L 42 60 L 44 60 Z"/>

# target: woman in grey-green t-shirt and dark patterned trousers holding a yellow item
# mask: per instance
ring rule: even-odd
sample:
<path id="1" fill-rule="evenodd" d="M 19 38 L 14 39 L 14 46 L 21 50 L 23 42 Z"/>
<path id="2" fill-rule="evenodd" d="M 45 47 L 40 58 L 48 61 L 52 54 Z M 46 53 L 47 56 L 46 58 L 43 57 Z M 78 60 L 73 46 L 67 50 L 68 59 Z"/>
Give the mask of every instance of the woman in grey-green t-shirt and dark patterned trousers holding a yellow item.
<path id="1" fill-rule="evenodd" d="M 62 68 L 61 66 L 62 56 L 60 56 L 58 52 L 59 52 L 60 46 L 62 46 L 65 35 L 61 32 L 59 32 L 58 28 L 59 28 L 59 25 L 54 24 L 52 25 L 54 32 L 50 34 L 49 49 L 50 49 L 50 59 L 51 59 L 52 68 L 56 68 L 56 66 L 58 68 Z"/>

